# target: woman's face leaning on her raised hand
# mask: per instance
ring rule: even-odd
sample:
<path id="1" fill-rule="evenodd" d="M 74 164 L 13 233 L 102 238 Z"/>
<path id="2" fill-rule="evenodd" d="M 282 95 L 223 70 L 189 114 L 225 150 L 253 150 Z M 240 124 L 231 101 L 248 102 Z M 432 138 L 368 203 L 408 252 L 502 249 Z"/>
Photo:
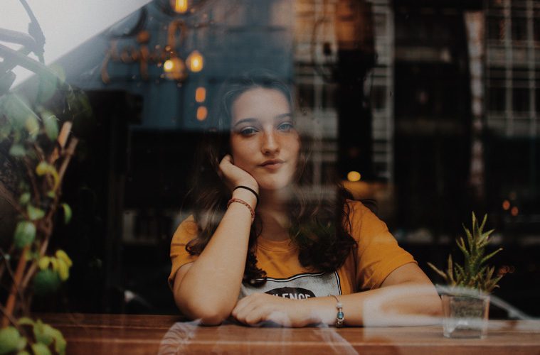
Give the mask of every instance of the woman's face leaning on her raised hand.
<path id="1" fill-rule="evenodd" d="M 260 190 L 290 184 L 297 168 L 300 136 L 289 102 L 277 89 L 255 87 L 231 107 L 233 162 L 257 180 Z"/>

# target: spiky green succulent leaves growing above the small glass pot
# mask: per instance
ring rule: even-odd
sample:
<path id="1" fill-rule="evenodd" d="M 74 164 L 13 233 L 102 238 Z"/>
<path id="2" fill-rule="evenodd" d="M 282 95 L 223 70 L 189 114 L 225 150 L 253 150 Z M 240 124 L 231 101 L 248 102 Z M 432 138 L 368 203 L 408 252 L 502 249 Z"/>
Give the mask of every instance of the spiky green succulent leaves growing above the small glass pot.
<path id="1" fill-rule="evenodd" d="M 488 266 L 486 262 L 499 251 L 502 251 L 502 248 L 486 255 L 485 249 L 489 243 L 489 235 L 494 231 L 494 229 L 484 231 L 486 220 L 487 214 L 479 226 L 475 213 L 472 212 L 472 231 L 463 225 L 467 235 L 467 242 L 465 243 L 462 236 L 456 240 L 457 246 L 465 256 L 463 265 L 454 263 L 452 255 L 448 256 L 446 271 L 441 271 L 432 263 L 428 263 L 430 268 L 445 279 L 450 288 L 466 288 L 479 290 L 482 293 L 491 293 L 494 288 L 499 287 L 497 283 L 503 275 L 494 274 L 494 266 Z M 457 292 L 459 293 L 459 291 Z"/>

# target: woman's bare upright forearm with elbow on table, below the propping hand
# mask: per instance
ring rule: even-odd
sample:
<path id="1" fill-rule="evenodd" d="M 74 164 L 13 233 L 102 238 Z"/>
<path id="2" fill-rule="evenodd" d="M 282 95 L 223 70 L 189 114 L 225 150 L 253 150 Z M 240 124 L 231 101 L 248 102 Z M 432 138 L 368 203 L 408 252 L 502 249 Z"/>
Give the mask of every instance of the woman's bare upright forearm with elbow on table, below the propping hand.
<path id="1" fill-rule="evenodd" d="M 255 196 L 248 191 L 235 190 L 233 197 L 255 207 Z M 250 225 L 248 207 L 232 203 L 201 255 L 179 283 L 176 278 L 174 298 L 186 315 L 216 324 L 231 314 L 244 274 Z"/>

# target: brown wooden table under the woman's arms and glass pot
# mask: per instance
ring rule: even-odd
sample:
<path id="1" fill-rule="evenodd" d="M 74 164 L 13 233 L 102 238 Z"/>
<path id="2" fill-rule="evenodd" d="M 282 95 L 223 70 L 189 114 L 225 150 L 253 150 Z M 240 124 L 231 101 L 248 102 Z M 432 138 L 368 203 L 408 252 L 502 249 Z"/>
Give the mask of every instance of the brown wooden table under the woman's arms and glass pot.
<path id="1" fill-rule="evenodd" d="M 200 327 L 168 315 L 37 315 L 68 354 L 540 354 L 540 321 L 492 321 L 487 339 L 446 339 L 440 326 Z"/>

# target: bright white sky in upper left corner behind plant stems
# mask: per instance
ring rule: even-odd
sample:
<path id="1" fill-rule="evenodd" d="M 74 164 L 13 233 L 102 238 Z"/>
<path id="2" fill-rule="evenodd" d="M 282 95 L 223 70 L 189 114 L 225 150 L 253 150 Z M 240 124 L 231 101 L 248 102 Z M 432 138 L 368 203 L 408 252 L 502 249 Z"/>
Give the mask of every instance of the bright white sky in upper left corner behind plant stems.
<path id="1" fill-rule="evenodd" d="M 46 38 L 45 64 L 58 60 L 70 50 L 117 23 L 151 0 L 27 0 Z M 0 0 L 0 28 L 28 33 L 30 19 L 19 0 Z M 0 42 L 10 48 L 19 45 Z M 33 56 L 33 58 L 36 58 Z M 12 88 L 33 75 L 14 69 Z"/>

